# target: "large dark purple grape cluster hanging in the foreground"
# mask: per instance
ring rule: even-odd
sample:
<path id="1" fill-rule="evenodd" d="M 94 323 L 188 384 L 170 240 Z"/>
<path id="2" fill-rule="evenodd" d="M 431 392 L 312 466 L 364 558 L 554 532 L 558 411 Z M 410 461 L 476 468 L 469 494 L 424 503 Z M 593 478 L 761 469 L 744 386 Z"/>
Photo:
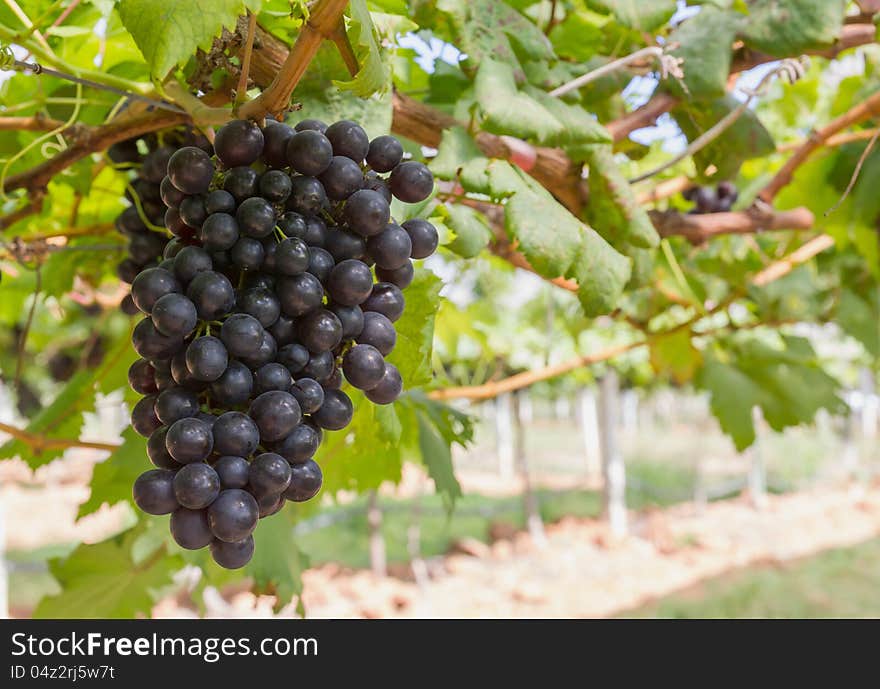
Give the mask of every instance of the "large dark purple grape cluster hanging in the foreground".
<path id="1" fill-rule="evenodd" d="M 145 317 L 132 335 L 141 358 L 129 382 L 144 397 L 131 422 L 156 467 L 134 499 L 170 513 L 183 548 L 210 546 L 234 569 L 253 555 L 258 519 L 320 490 L 323 433 L 354 413 L 343 381 L 376 404 L 400 395 L 385 357 L 412 259 L 438 237 L 424 220 L 391 218 L 392 195 L 431 194 L 428 168 L 354 122 L 236 120 L 214 151 L 168 157 L 160 189 L 174 238 L 132 282 Z"/>

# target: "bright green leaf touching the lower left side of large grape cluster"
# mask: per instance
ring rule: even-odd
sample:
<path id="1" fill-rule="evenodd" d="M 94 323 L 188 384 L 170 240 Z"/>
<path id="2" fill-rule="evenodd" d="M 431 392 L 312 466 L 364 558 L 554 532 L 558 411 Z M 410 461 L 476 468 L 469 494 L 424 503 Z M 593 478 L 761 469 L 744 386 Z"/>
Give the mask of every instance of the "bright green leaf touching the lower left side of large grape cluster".
<path id="1" fill-rule="evenodd" d="M 95 465 L 89 484 L 89 498 L 79 506 L 76 518 L 97 512 L 103 505 L 119 502 L 134 504 L 131 487 L 135 479 L 152 466 L 147 460 L 144 439 L 131 428 L 122 434 L 122 445 L 107 459 Z"/>

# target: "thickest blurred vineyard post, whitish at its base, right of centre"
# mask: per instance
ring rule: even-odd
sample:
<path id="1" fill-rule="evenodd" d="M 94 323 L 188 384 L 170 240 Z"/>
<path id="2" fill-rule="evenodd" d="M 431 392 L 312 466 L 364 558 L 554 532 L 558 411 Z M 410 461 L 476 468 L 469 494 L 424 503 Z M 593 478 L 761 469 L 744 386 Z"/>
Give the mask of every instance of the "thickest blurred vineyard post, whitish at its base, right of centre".
<path id="1" fill-rule="evenodd" d="M 615 536 L 627 533 L 626 469 L 617 438 L 617 372 L 609 369 L 599 384 L 599 438 L 602 447 L 602 497 L 605 519 Z"/>

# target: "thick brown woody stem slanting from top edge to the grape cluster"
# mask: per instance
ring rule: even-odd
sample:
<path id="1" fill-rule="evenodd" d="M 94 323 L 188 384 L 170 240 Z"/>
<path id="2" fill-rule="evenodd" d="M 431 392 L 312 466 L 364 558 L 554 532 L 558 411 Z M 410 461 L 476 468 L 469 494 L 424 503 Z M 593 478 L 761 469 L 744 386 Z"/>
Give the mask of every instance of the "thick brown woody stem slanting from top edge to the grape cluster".
<path id="1" fill-rule="evenodd" d="M 321 41 L 332 38 L 347 5 L 347 0 L 318 0 L 315 3 L 272 83 L 259 96 L 239 108 L 239 117 L 260 120 L 268 114 L 287 110 L 293 90 L 318 52 Z"/>

